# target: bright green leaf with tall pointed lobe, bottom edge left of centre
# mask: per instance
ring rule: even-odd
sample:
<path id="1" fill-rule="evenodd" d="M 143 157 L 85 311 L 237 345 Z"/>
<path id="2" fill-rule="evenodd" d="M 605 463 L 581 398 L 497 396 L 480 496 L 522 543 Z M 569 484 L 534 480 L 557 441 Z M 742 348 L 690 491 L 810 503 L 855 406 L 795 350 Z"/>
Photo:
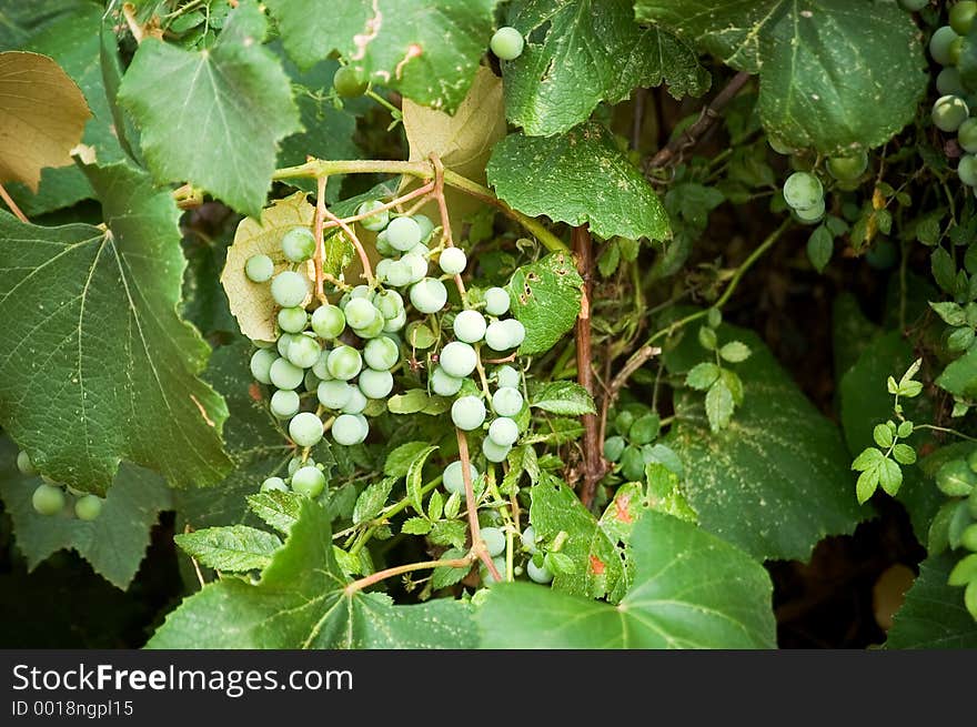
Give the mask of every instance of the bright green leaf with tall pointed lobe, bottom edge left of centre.
<path id="1" fill-rule="evenodd" d="M 185 598 L 149 648 L 472 648 L 470 607 L 435 599 L 394 606 L 345 592 L 325 509 L 304 501 L 284 547 L 256 585 L 210 583 Z"/>

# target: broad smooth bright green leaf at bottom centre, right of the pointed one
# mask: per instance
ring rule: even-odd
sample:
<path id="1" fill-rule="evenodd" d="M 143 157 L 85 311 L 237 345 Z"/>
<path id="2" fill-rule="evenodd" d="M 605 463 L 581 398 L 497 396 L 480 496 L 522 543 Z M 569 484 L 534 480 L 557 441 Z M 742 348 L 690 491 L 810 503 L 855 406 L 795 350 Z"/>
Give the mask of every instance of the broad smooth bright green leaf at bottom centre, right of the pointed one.
<path id="1" fill-rule="evenodd" d="M 497 584 L 479 610 L 486 648 L 773 648 L 766 571 L 669 515 L 632 534 L 634 583 L 616 606 L 526 583 Z"/>

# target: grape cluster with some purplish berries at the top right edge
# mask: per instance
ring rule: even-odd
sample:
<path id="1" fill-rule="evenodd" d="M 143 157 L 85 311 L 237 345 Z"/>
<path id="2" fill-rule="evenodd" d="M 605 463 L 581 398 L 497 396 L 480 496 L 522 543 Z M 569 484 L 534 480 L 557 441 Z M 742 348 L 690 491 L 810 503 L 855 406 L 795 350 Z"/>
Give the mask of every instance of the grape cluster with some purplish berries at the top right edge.
<path id="1" fill-rule="evenodd" d="M 929 39 L 929 54 L 943 70 L 936 77 L 940 97 L 933 104 L 930 118 L 940 131 L 956 132 L 957 143 L 965 152 L 957 164 L 957 175 L 967 186 L 977 188 L 977 87 L 960 75 L 957 62 L 964 37 L 977 17 L 977 2 L 958 2 L 949 12 L 948 26 L 937 28 Z"/>

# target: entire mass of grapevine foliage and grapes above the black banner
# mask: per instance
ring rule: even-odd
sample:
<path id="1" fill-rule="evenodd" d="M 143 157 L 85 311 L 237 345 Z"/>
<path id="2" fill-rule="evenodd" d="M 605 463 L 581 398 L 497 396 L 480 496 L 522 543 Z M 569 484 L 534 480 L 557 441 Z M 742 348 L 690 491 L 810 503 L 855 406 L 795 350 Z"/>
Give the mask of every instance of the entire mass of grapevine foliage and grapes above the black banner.
<path id="1" fill-rule="evenodd" d="M 977 2 L 329 6 L 0 2 L 0 643 L 977 646 Z"/>

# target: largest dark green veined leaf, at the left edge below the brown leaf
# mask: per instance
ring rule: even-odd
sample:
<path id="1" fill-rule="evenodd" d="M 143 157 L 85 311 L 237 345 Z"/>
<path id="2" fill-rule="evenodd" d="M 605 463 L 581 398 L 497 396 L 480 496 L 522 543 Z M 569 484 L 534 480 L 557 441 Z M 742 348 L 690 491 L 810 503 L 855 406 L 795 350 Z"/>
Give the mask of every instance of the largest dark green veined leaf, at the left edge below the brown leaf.
<path id="1" fill-rule="evenodd" d="M 80 489 L 104 493 L 123 458 L 213 484 L 230 466 L 228 411 L 197 377 L 209 346 L 177 315 L 177 208 L 124 163 L 85 172 L 108 229 L 0 214 L 0 420 L 42 473 Z"/>

